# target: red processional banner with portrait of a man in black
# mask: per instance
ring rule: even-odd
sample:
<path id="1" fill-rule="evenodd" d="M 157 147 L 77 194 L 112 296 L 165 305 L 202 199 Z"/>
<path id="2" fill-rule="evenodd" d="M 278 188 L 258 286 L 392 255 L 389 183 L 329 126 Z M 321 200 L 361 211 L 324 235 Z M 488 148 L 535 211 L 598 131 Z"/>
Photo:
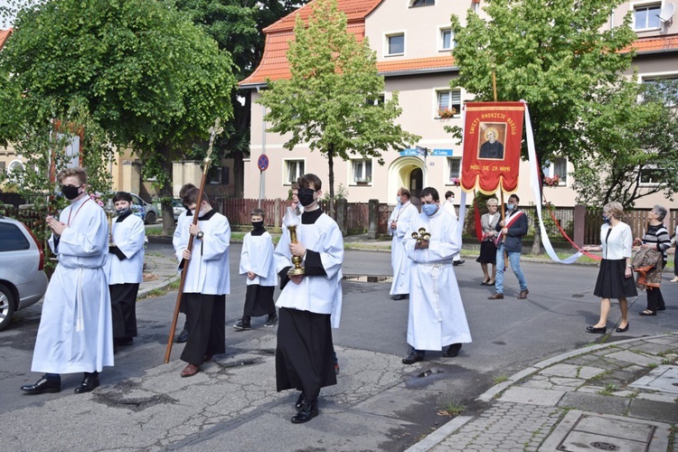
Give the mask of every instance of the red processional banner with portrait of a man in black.
<path id="1" fill-rule="evenodd" d="M 467 102 L 461 188 L 485 194 L 518 190 L 523 102 Z"/>

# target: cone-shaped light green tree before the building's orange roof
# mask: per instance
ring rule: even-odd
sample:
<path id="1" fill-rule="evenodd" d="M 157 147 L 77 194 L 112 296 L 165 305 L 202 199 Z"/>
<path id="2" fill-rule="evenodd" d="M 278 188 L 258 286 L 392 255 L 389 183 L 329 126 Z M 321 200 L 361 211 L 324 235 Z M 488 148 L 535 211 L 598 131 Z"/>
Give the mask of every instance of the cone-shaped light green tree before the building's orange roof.
<path id="1" fill-rule="evenodd" d="M 268 108 L 268 130 L 290 134 L 287 149 L 306 143 L 327 157 L 330 212 L 334 212 L 334 158 L 376 157 L 404 147 L 419 137 L 395 123 L 400 116 L 398 93 L 375 106 L 384 89 L 376 54 L 346 29 L 346 15 L 336 0 L 318 0 L 307 27 L 297 17 L 295 41 L 287 59 L 291 80 L 268 81 L 259 102 Z"/>

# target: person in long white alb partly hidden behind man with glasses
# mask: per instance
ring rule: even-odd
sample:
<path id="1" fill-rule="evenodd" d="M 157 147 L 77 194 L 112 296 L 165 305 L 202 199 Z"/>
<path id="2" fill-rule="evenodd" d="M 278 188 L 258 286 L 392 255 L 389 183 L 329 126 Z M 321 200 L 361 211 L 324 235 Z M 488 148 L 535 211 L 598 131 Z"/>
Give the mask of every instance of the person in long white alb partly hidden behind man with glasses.
<path id="1" fill-rule="evenodd" d="M 410 268 L 412 261 L 402 248 L 405 233 L 410 230 L 410 223 L 417 218 L 419 210 L 410 202 L 410 190 L 400 187 L 396 196 L 396 207 L 389 219 L 389 233 L 391 240 L 391 268 L 393 268 L 393 282 L 391 284 L 391 298 L 404 300 L 410 297 Z"/>

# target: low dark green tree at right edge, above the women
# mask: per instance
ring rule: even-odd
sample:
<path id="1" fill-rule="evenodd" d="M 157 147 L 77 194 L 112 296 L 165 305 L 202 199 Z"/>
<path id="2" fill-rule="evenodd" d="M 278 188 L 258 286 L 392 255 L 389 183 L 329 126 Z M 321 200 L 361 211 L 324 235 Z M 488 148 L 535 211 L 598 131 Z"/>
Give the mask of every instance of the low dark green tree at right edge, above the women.
<path id="1" fill-rule="evenodd" d="M 592 146 L 573 173 L 577 202 L 633 207 L 678 190 L 678 80 L 631 80 L 621 88 L 610 90 L 589 123 Z"/>

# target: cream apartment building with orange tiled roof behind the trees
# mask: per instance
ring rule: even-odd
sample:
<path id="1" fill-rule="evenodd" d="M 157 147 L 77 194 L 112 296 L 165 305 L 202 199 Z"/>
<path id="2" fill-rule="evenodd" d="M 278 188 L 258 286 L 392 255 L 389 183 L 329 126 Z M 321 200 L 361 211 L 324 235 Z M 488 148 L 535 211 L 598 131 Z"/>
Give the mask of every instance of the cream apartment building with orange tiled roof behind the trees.
<path id="1" fill-rule="evenodd" d="M 313 3 L 305 5 L 275 24 L 266 33 L 266 48 L 259 67 L 240 87 L 252 89 L 250 159 L 245 161 L 245 198 L 285 197 L 297 176 L 318 174 L 327 180 L 327 161 L 306 146 L 289 151 L 283 147 L 287 137 L 265 132 L 264 110 L 256 103 L 259 90 L 266 80 L 289 77 L 286 58 L 287 42 L 294 36 L 297 14 L 306 19 Z M 418 193 L 424 186 L 434 186 L 438 192 L 458 192 L 461 146 L 444 130 L 445 126 L 461 126 L 460 107 L 473 99 L 472 93 L 454 87 L 458 68 L 450 54 L 455 41 L 449 17 L 457 14 L 462 20 L 466 11 L 482 11 L 480 0 L 451 2 L 449 0 L 339 0 L 339 9 L 348 17 L 348 28 L 359 38 L 367 37 L 377 54 L 377 65 L 385 78 L 384 96 L 400 92 L 402 115 L 399 122 L 405 130 L 419 135 L 419 143 L 409 149 L 384 153 L 385 165 L 375 159 L 356 157 L 349 161 L 334 161 L 335 190 L 339 184 L 348 191 L 349 202 L 379 199 L 394 202 L 400 186 Z M 638 35 L 635 43 L 636 69 L 641 82 L 659 78 L 678 78 L 678 25 L 673 24 L 674 6 L 666 0 L 626 2 L 609 18 L 606 26 L 622 24 L 624 15 L 633 14 L 633 28 Z M 446 108 L 457 114 L 447 118 Z M 441 111 L 443 117 L 441 117 Z M 426 157 L 418 155 L 416 146 L 431 150 Z M 264 172 L 257 165 L 259 155 L 268 157 Z M 556 158 L 544 168 L 545 176 L 560 175 L 557 186 L 545 188 L 547 199 L 561 206 L 573 205 L 576 193 L 571 190 L 572 165 L 565 158 Z M 535 202 L 529 185 L 529 167 L 523 162 L 518 195 L 522 202 Z M 646 184 L 653 184 L 648 178 Z M 325 190 L 326 191 L 326 190 Z M 657 193 L 637 202 L 638 207 L 666 202 Z"/>

